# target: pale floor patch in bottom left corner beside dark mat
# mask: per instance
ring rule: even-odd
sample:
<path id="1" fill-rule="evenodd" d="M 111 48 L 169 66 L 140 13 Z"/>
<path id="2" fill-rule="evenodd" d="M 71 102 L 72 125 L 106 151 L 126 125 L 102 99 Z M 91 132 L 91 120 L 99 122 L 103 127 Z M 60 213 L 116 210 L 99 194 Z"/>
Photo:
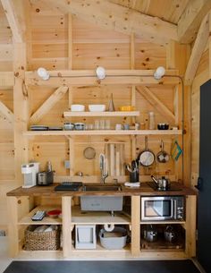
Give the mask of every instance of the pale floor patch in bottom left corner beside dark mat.
<path id="1" fill-rule="evenodd" d="M 8 258 L 8 237 L 0 236 L 0 273 L 4 272 L 12 260 Z"/>

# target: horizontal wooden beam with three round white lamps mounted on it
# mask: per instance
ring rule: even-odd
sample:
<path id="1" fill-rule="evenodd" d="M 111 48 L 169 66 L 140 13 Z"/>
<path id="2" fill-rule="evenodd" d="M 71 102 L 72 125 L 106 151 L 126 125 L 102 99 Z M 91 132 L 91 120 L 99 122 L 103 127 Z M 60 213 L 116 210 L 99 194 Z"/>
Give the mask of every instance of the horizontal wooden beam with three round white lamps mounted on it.
<path id="1" fill-rule="evenodd" d="M 176 85 L 179 80 L 175 77 L 164 77 L 157 81 L 153 77 L 154 70 L 106 70 L 104 80 L 97 79 L 94 70 L 66 70 L 66 71 L 48 71 L 50 79 L 43 81 L 36 72 L 26 72 L 26 85 L 42 85 L 48 87 L 66 86 L 97 86 L 106 84 L 134 84 L 134 85 L 157 85 L 168 84 Z M 175 70 L 165 72 L 165 75 L 177 75 Z"/>

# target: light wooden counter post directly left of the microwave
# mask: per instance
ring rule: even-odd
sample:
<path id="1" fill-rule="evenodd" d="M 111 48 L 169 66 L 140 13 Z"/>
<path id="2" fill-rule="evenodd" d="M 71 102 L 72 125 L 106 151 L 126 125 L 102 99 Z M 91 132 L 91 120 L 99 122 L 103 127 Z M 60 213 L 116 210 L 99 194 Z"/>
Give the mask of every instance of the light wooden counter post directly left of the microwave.
<path id="1" fill-rule="evenodd" d="M 140 253 L 140 197 L 131 196 L 131 255 Z"/>

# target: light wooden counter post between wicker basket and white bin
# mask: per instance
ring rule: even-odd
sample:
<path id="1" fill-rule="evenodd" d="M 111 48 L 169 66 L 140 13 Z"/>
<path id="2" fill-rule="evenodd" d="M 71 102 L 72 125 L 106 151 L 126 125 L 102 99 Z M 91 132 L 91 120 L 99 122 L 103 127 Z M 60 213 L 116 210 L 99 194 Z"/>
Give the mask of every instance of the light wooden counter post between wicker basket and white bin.
<path id="1" fill-rule="evenodd" d="M 63 257 L 70 258 L 72 252 L 72 197 L 62 197 L 63 209 Z"/>

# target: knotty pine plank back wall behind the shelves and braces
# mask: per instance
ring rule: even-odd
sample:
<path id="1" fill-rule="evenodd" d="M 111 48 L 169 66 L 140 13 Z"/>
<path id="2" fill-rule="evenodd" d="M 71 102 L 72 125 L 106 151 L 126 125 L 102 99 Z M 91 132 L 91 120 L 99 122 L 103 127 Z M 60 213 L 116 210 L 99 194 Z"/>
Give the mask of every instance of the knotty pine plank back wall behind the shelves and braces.
<path id="1" fill-rule="evenodd" d="M 35 4 L 34 4 L 35 3 Z M 1 12 L 0 32 L 0 71 L 13 71 L 13 44 L 11 31 L 8 23 Z M 168 68 L 179 68 L 185 66 L 184 58 L 169 53 L 169 45 L 161 46 L 149 43 L 140 38 L 133 38 L 111 30 L 102 30 L 100 27 L 81 21 L 72 15 L 63 15 L 56 10 L 50 10 L 45 4 L 31 4 L 28 21 L 28 43 L 27 58 L 28 70 L 37 70 L 42 66 L 49 70 L 95 70 L 97 65 L 105 69 L 156 69 L 163 65 Z M 181 50 L 181 48 L 180 48 Z M 180 51 L 178 50 L 178 52 Z M 171 50 L 170 50 L 171 52 Z M 172 54 L 172 55 L 171 55 Z M 171 56 L 170 56 L 171 55 Z M 171 60 L 170 60 L 171 59 Z M 174 61 L 173 61 L 174 60 Z M 182 63 L 184 62 L 184 64 Z M 173 67 L 171 67 L 173 66 Z M 183 70 L 181 69 L 181 74 Z M 71 87 L 70 87 L 71 88 Z M 115 85 L 104 87 L 71 88 L 72 102 L 85 104 L 105 103 L 108 104 L 111 94 L 114 95 L 116 109 L 122 105 L 131 104 L 131 86 Z M 165 106 L 173 111 L 174 95 L 177 90 L 172 86 L 158 85 L 150 89 L 157 98 L 165 103 Z M 179 89 L 180 90 L 180 89 Z M 29 88 L 30 115 L 48 98 L 55 89 L 48 87 Z M 181 92 L 181 90 L 180 90 Z M 0 90 L 0 100 L 13 110 L 13 90 Z M 63 122 L 69 121 L 63 117 L 63 111 L 69 107 L 68 94 L 51 109 L 38 124 L 49 126 L 62 126 Z M 140 111 L 137 122 L 145 123 L 148 128 L 148 112 L 154 111 L 156 123 L 166 122 L 165 115 L 161 115 L 148 103 L 139 93 L 136 94 L 136 107 Z M 0 226 L 6 224 L 5 192 L 16 185 L 13 173 L 13 126 L 8 124 L 4 117 L 0 116 Z M 95 119 L 75 118 L 73 122 L 94 123 Z M 111 125 L 132 124 L 131 118 L 113 118 Z M 179 118 L 181 129 L 181 114 Z M 170 124 L 174 125 L 174 124 Z M 172 136 L 164 138 L 148 137 L 148 146 L 155 154 L 160 150 L 160 141 L 165 141 L 165 150 L 170 153 L 171 145 L 175 140 Z M 69 149 L 69 139 L 61 137 L 36 137 L 30 141 L 30 159 L 39 161 L 41 170 L 46 167 L 46 161 L 52 162 L 56 175 L 69 175 L 69 170 L 64 168 L 64 160 L 75 158 L 73 175 L 82 171 L 84 175 L 99 175 L 98 155 L 105 152 L 105 143 L 123 142 L 124 160 L 129 163 L 132 159 L 130 137 L 83 137 L 77 138 L 72 149 Z M 181 143 L 181 138 L 178 138 Z M 97 150 L 97 157 L 93 161 L 83 157 L 83 150 L 93 146 Z M 136 152 L 144 149 L 144 138 L 137 137 Z M 133 155 L 134 156 L 134 155 Z M 21 168 L 21 166 L 20 166 Z M 181 178 L 181 158 L 177 165 L 173 160 L 166 165 L 152 166 L 151 168 L 140 168 L 141 175 L 171 175 L 174 179 Z M 89 179 L 88 176 L 88 179 Z M 149 176 L 148 176 L 149 177 Z M 89 180 L 90 180 L 89 179 Z M 95 178 L 99 181 L 99 176 Z M 2 217 L 4 216 L 4 217 Z"/>

